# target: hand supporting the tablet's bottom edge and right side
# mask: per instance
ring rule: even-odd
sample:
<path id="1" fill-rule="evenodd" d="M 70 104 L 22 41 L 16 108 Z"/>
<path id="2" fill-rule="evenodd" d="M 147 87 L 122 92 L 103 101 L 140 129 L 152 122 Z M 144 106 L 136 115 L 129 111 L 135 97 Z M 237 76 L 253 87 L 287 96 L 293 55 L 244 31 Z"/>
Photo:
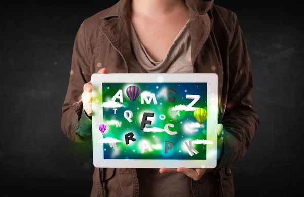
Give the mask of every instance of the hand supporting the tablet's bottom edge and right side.
<path id="1" fill-rule="evenodd" d="M 217 125 L 217 161 L 220 159 L 222 155 L 222 149 L 223 149 L 223 125 L 218 124 Z M 198 168 L 198 169 L 189 169 L 189 168 L 177 168 L 177 169 L 171 169 L 171 168 L 161 168 L 160 173 L 183 173 L 187 175 L 188 177 L 192 178 L 193 180 L 197 181 L 202 178 L 204 173 L 206 172 L 207 168 Z"/>

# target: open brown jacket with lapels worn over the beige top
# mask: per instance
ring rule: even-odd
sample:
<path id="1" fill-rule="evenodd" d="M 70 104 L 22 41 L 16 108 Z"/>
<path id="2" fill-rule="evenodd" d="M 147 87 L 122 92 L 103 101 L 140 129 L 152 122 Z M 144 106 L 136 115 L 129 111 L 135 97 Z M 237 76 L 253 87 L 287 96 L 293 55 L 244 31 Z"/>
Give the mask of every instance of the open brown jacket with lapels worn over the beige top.
<path id="1" fill-rule="evenodd" d="M 245 155 L 259 118 L 252 104 L 252 68 L 235 13 L 212 1 L 186 0 L 190 10 L 193 71 L 219 76 L 219 123 L 224 126 L 224 150 L 215 169 L 192 181 L 194 196 L 234 196 L 229 165 Z M 130 68 L 130 2 L 86 19 L 77 33 L 71 75 L 62 107 L 61 128 L 75 142 L 92 138 L 92 122 L 82 110 L 83 85 L 100 68 L 128 73 Z M 137 71 L 141 72 L 141 71 Z M 91 196 L 139 196 L 136 169 L 95 168 Z"/>

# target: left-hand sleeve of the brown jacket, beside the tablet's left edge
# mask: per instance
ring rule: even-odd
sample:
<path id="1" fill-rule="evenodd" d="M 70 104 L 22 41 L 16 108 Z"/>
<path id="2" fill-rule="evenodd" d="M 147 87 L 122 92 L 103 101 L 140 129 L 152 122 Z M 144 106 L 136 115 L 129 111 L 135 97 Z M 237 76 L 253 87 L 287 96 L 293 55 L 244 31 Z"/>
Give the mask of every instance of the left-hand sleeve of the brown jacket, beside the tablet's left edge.
<path id="1" fill-rule="evenodd" d="M 92 138 L 92 120 L 84 112 L 81 101 L 84 84 L 91 79 L 84 26 L 85 22 L 75 38 L 69 84 L 62 106 L 61 129 L 74 142 L 85 142 Z"/>

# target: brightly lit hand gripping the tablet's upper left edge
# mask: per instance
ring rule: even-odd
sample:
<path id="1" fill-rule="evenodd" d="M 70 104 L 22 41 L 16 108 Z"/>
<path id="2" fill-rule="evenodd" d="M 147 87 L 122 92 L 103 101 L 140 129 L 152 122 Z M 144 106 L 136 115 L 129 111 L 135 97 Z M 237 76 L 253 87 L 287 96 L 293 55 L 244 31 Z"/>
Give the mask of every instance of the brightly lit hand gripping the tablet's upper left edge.
<path id="1" fill-rule="evenodd" d="M 97 73 L 106 74 L 107 70 L 106 70 L 106 68 L 102 68 L 102 69 L 99 69 L 99 71 Z M 88 116 L 92 116 L 92 101 L 93 101 L 92 90 L 93 90 L 92 84 L 91 84 L 91 81 L 89 81 L 88 83 L 84 84 L 84 91 L 81 94 L 81 99 L 83 102 L 83 109 L 87 113 Z"/>

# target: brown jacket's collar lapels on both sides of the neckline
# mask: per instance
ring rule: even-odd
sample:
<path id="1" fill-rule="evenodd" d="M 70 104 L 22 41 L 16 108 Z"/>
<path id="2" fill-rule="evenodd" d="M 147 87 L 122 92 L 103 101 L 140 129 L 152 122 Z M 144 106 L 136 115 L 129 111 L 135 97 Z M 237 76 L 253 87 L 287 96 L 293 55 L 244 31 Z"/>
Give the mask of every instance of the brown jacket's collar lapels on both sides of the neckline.
<path id="1" fill-rule="evenodd" d="M 194 64 L 198 53 L 210 34 L 212 21 L 207 12 L 213 5 L 213 0 L 185 0 L 185 3 L 190 12 L 191 62 Z M 132 53 L 130 42 L 130 0 L 120 0 L 102 12 L 100 18 L 103 20 L 99 27 L 100 30 L 122 55 L 126 62 L 126 72 L 128 72 Z"/>

